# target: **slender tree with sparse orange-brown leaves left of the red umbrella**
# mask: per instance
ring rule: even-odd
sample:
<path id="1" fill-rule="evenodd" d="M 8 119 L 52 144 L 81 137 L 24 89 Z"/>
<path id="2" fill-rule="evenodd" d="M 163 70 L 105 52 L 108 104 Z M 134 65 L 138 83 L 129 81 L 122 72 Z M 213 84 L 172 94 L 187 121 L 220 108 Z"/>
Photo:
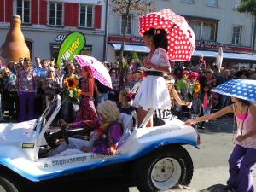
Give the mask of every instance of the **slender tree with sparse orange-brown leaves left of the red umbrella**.
<path id="1" fill-rule="evenodd" d="M 131 11 L 135 11 L 137 15 L 143 15 L 147 12 L 154 10 L 154 1 L 151 0 L 111 0 L 111 6 L 113 7 L 113 13 L 119 13 L 125 17 L 125 25 L 123 26 L 123 38 L 121 49 L 119 52 L 119 67 L 123 67 L 125 38 L 128 26 L 129 16 Z"/>

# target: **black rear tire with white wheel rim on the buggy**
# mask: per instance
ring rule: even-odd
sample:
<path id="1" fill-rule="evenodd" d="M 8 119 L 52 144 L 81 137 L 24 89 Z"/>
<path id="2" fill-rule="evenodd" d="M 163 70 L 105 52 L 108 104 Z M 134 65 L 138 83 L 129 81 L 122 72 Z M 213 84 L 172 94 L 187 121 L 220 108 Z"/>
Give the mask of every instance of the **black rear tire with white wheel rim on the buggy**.
<path id="1" fill-rule="evenodd" d="M 133 167 L 133 178 L 135 179 L 134 181 L 137 185 L 137 189 L 139 189 L 140 192 L 155 192 L 166 189 L 166 187 L 161 189 L 160 187 L 155 186 L 152 178 L 152 174 L 154 174 L 152 172 L 153 168 L 157 163 L 160 163 L 161 160 L 169 160 L 170 164 L 172 164 L 172 168 L 177 167 L 175 165 L 178 165 L 179 167 L 177 170 L 180 170 L 180 174 L 178 174 L 180 177 L 176 178 L 178 182 L 176 183 L 174 180 L 172 181 L 172 176 L 175 175 L 175 172 L 172 172 L 169 177 L 172 183 L 171 181 L 168 183 L 169 181 L 166 180 L 165 183 L 167 183 L 167 185 L 189 185 L 194 171 L 192 159 L 182 146 L 172 145 L 156 149 L 152 154 L 148 154 L 143 157 L 143 159 L 137 161 L 136 165 Z M 173 164 L 172 160 L 176 162 L 176 164 Z M 175 170 L 175 168 L 172 169 L 172 171 L 173 170 Z M 168 188 L 172 188 L 173 186 L 168 186 Z"/>

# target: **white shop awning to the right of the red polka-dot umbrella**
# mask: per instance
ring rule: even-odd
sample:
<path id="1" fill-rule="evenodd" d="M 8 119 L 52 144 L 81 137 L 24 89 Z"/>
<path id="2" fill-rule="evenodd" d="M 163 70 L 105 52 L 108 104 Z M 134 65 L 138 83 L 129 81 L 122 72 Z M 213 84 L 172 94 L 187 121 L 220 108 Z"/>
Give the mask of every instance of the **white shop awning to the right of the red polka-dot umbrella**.
<path id="1" fill-rule="evenodd" d="M 195 50 L 193 56 L 204 57 L 216 57 L 218 55 L 217 51 L 208 51 L 208 50 Z M 253 54 L 239 54 L 239 53 L 223 53 L 224 59 L 234 59 L 234 60 L 253 60 L 256 61 L 256 55 Z"/>

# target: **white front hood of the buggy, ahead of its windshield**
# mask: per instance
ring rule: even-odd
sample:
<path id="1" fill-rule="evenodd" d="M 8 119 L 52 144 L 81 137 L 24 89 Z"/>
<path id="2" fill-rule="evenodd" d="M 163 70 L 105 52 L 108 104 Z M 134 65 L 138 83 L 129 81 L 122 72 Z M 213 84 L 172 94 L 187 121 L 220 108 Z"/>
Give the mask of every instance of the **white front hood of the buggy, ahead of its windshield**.
<path id="1" fill-rule="evenodd" d="M 13 143 L 26 141 L 35 136 L 34 127 L 37 120 L 29 120 L 21 123 L 0 124 L 0 143 Z"/>

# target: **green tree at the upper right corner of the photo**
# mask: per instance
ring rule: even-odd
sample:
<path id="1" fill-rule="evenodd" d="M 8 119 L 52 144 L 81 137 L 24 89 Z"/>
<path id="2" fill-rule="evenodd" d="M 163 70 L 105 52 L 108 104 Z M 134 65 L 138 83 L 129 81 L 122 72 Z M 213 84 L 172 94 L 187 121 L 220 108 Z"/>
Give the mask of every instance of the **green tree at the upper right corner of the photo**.
<path id="1" fill-rule="evenodd" d="M 256 40 L 256 0 L 241 0 L 240 4 L 236 7 L 240 13 L 247 13 L 253 16 L 254 29 L 253 29 L 253 53 L 255 49 Z"/>

